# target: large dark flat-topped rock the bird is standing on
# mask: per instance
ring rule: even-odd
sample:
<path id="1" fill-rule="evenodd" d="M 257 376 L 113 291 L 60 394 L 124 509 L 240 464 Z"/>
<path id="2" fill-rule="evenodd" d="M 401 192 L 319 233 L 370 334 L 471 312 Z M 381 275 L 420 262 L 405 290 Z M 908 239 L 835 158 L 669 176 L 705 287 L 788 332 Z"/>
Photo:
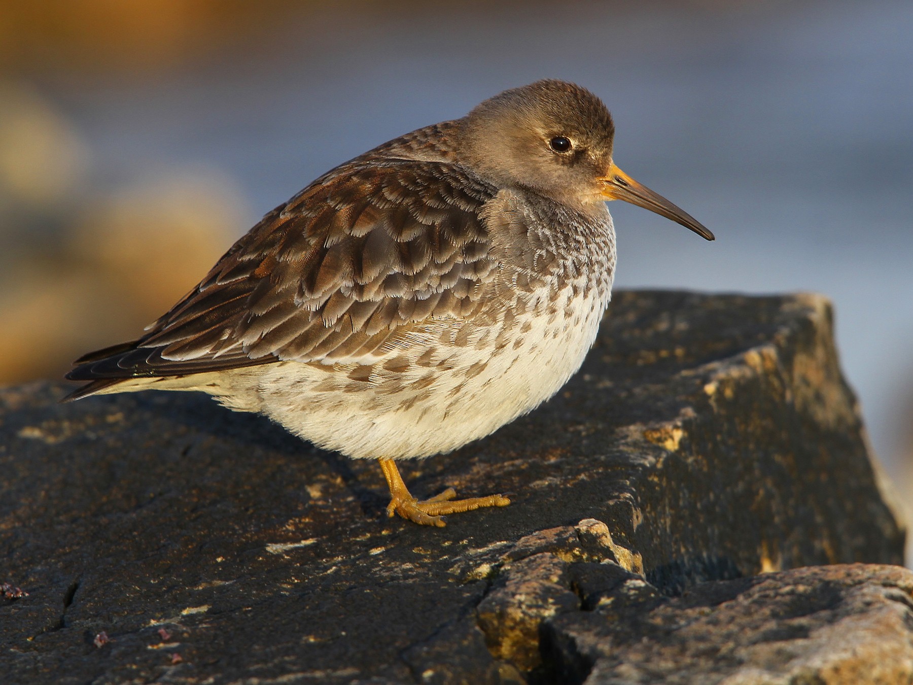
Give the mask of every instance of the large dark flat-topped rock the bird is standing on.
<path id="1" fill-rule="evenodd" d="M 204 396 L 59 406 L 62 385 L 0 390 L 0 583 L 28 593 L 0 597 L 0 681 L 480 684 L 569 682 L 593 669 L 593 681 L 646 682 L 632 679 L 651 660 L 699 667 L 693 642 L 656 638 L 675 612 L 712 634 L 715 612 L 774 601 L 763 583 L 836 584 L 827 596 L 845 614 L 822 608 L 817 590 L 802 595 L 822 626 L 864 616 L 868 596 L 897 611 L 908 576 L 896 592 L 884 579 L 902 570 L 696 585 L 901 563 L 904 531 L 832 336 L 830 308 L 814 296 L 618 293 L 582 372 L 551 402 L 404 465 L 420 496 L 447 485 L 513 493 L 511 506 L 444 529 L 387 519 L 373 463 Z M 624 620 L 654 644 L 624 648 L 629 670 L 606 658 L 618 640 L 606 606 L 623 600 L 642 602 L 641 618 Z M 889 614 L 877 620 L 887 626 Z M 732 628 L 734 643 L 768 629 L 754 618 Z M 904 620 L 891 624 L 897 644 L 913 625 Z M 797 664 L 824 659 L 824 628 L 807 629 L 820 649 L 796 651 Z M 794 639 L 808 638 L 782 637 Z M 706 672 L 789 681 L 763 671 L 762 650 L 746 654 L 761 664 L 754 680 Z"/>

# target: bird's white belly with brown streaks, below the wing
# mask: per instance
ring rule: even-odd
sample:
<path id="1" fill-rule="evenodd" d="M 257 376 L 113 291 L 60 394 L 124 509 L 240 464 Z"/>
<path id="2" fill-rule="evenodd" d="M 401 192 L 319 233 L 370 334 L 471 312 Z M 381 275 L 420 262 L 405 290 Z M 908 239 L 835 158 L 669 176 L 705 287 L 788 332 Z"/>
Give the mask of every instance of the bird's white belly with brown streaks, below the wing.
<path id="1" fill-rule="evenodd" d="M 607 291 L 572 298 L 569 288 L 551 303 L 551 315 L 542 303 L 518 316 L 501 349 L 493 343 L 442 346 L 436 364 L 395 374 L 377 364 L 370 383 L 352 381 L 340 367 L 258 367 L 257 408 L 296 435 L 350 457 L 447 452 L 554 395 L 580 368 L 607 303 Z"/>

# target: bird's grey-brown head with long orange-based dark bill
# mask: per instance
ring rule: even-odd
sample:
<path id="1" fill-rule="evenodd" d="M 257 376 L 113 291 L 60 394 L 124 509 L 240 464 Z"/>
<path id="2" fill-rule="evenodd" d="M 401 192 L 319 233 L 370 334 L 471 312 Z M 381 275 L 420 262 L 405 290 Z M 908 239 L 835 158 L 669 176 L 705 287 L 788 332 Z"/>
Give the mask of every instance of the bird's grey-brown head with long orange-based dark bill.
<path id="1" fill-rule="evenodd" d="M 485 100 L 461 120 L 458 160 L 501 186 L 527 187 L 564 205 L 624 200 L 713 234 L 615 166 L 615 127 L 603 101 L 559 80 L 540 80 Z"/>

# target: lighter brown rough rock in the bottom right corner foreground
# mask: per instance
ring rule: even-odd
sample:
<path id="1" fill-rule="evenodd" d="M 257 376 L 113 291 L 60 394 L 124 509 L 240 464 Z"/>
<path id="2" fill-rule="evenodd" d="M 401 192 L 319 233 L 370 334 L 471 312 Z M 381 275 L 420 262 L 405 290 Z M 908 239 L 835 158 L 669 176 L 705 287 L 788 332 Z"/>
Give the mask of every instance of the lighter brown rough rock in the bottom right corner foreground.
<path id="1" fill-rule="evenodd" d="M 550 619 L 555 678 L 588 685 L 913 681 L 913 573 L 813 566 L 696 585 L 634 605 L 629 582 L 593 612 Z M 658 596 L 658 595 L 655 595 Z"/>

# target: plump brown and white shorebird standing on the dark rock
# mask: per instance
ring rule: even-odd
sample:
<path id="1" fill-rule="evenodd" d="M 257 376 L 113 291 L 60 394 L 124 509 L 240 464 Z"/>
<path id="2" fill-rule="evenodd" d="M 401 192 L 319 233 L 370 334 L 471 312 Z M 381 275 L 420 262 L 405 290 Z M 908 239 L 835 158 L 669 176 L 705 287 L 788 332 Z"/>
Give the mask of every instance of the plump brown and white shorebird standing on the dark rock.
<path id="1" fill-rule="evenodd" d="M 80 357 L 64 398 L 202 391 L 377 459 L 387 514 L 433 526 L 510 503 L 419 501 L 397 462 L 488 436 L 581 366 L 608 305 L 608 200 L 713 234 L 614 163 L 590 90 L 544 79 L 341 163 L 269 212 L 138 340 Z"/>

